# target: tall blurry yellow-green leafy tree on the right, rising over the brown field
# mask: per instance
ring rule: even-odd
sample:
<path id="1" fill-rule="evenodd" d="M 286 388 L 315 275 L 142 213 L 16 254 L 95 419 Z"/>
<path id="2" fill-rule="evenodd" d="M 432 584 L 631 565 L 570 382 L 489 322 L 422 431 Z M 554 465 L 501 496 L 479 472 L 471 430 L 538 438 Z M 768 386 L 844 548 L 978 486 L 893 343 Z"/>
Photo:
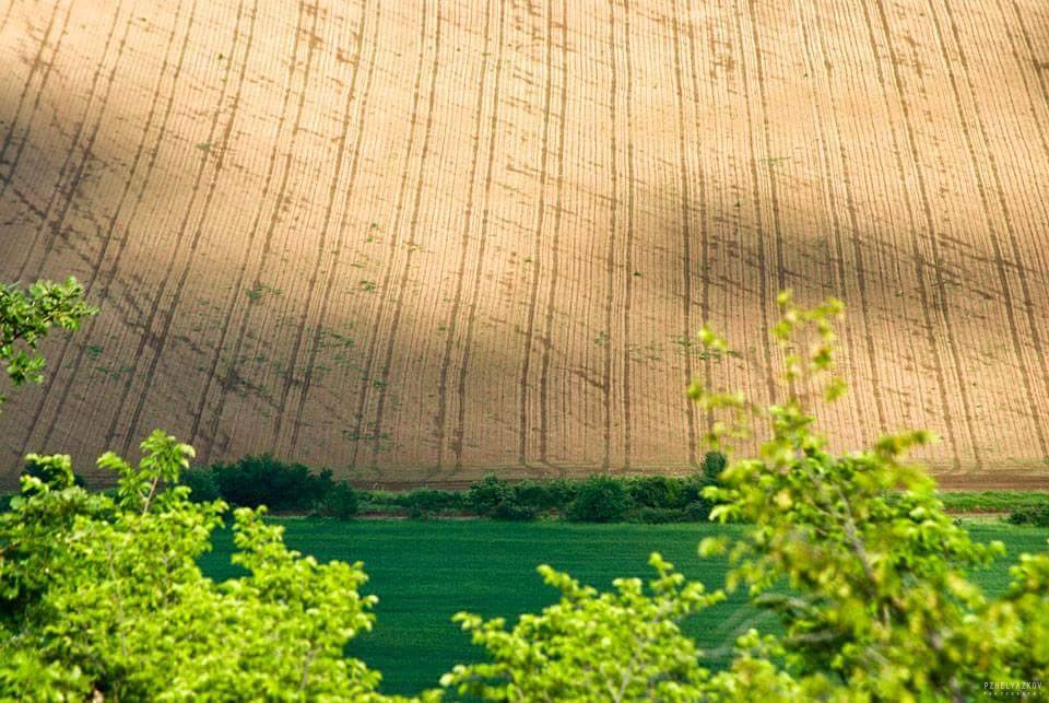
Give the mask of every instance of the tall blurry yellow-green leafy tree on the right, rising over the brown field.
<path id="1" fill-rule="evenodd" d="M 775 337 L 789 347 L 811 326 L 820 340 L 808 359 L 786 356 L 785 378 L 832 376 L 825 397 L 833 400 L 840 382 L 829 320 L 840 303 L 803 309 L 782 294 L 780 304 Z M 734 410 L 719 394 L 699 395 Z M 963 700 L 987 681 L 1045 680 L 1049 651 L 1038 643 L 1049 618 L 1049 558 L 1023 556 L 1002 600 L 969 581 L 1004 550 L 975 543 L 944 513 L 932 480 L 905 461 L 908 449 L 932 441 L 929 433 L 837 456 L 793 390 L 763 417 L 771 436 L 758 458 L 731 462 L 722 487 L 705 490 L 720 503 L 711 519 L 751 528 L 731 547 L 703 550 L 729 549 L 727 587 L 745 586 L 753 602 L 779 616 L 785 671 L 852 700 Z"/>

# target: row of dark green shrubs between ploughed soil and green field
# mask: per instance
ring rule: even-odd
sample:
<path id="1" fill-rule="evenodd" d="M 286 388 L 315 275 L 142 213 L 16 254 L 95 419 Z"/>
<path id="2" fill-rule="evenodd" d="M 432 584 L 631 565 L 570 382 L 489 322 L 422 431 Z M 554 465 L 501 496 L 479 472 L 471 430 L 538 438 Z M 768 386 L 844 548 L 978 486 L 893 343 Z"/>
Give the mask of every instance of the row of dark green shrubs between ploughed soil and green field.
<path id="1" fill-rule="evenodd" d="M 591 476 L 587 479 L 510 482 L 486 476 L 469 491 L 364 491 L 337 482 L 329 469 L 311 472 L 269 455 L 195 467 L 182 474 L 195 501 L 223 499 L 235 507 L 349 518 L 361 512 L 409 517 L 476 515 L 502 520 L 564 517 L 580 523 L 704 520 L 702 491 L 717 480 L 724 457 L 708 452 L 703 470 L 685 478 Z"/>

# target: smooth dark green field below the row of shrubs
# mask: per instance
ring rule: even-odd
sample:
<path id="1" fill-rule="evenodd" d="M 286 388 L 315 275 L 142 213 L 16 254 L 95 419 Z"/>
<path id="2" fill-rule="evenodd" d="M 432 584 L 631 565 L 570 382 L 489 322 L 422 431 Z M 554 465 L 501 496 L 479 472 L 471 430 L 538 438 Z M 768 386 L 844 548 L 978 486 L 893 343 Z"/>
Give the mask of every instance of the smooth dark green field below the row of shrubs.
<path id="1" fill-rule="evenodd" d="M 469 636 L 450 622 L 459 610 L 510 619 L 549 605 L 555 593 L 535 574 L 549 563 L 608 588 L 616 576 L 647 576 L 648 554 L 658 550 L 692 578 L 709 587 L 722 583 L 727 564 L 700 560 L 703 537 L 738 530 L 714 525 L 571 525 L 509 524 L 487 520 L 334 520 L 284 519 L 286 541 L 319 560 L 361 560 L 372 581 L 366 590 L 379 596 L 373 632 L 354 641 L 352 654 L 382 671 L 384 690 L 413 693 L 435 687 L 457 661 L 480 656 Z M 1000 523 L 969 523 L 979 540 L 1000 539 L 1009 561 L 1046 547 L 1049 530 Z M 229 564 L 228 531 L 215 535 L 215 550 L 202 560 L 216 578 L 237 572 Z M 1007 583 L 1005 565 L 980 573 L 991 591 Z M 727 645 L 751 625 L 768 629 L 767 617 L 743 604 L 738 594 L 699 613 L 687 631 L 707 651 L 710 665 L 723 663 Z"/>

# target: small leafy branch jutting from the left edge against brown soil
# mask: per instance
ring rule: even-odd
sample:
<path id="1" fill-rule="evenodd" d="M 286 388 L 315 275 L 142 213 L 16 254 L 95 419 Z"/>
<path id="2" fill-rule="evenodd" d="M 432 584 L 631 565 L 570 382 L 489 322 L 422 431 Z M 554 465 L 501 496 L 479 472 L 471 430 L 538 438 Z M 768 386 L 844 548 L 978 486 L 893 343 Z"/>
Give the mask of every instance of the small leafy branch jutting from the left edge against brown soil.
<path id="1" fill-rule="evenodd" d="M 15 387 L 44 380 L 45 360 L 37 349 L 52 327 L 76 330 L 97 314 L 83 296 L 74 278 L 64 283 L 37 281 L 28 291 L 17 284 L 0 285 L 0 363 Z M 4 400 L 0 395 L 0 405 Z"/>

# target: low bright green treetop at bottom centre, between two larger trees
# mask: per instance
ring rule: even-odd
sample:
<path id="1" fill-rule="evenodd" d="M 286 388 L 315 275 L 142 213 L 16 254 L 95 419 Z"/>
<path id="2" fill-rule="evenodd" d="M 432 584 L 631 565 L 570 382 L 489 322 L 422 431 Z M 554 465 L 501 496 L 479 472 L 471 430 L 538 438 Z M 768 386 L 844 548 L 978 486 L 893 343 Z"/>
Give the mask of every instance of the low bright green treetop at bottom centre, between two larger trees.
<path id="1" fill-rule="evenodd" d="M 722 596 L 686 582 L 659 554 L 649 563 L 657 577 L 647 591 L 639 578 L 618 578 L 603 594 L 540 566 L 561 601 L 509 631 L 502 618 L 459 613 L 493 661 L 459 665 L 441 684 L 491 701 L 698 700 L 708 673 L 679 623 Z"/>

